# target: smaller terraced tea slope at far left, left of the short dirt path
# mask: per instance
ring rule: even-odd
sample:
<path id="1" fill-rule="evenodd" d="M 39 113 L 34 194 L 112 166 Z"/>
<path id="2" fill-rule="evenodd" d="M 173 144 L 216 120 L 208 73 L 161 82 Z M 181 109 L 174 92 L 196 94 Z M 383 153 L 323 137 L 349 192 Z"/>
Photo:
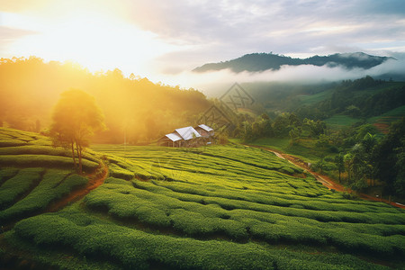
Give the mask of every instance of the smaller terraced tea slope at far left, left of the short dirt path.
<path id="1" fill-rule="evenodd" d="M 54 148 L 50 139 L 37 133 L 0 128 L 0 224 L 45 211 L 52 203 L 77 189 L 88 178 L 76 175 L 68 150 Z M 87 151 L 86 172 L 93 173 L 100 159 Z"/>

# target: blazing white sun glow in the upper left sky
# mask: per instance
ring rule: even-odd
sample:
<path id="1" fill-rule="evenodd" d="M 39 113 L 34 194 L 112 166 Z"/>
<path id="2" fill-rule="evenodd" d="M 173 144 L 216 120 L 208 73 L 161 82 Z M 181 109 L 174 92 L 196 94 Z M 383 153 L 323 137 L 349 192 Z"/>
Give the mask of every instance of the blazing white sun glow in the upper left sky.
<path id="1" fill-rule="evenodd" d="M 11 44 L 10 50 L 16 56 L 71 60 L 91 71 L 121 66 L 142 75 L 148 72 L 151 59 L 174 49 L 174 45 L 159 40 L 157 34 L 108 14 L 79 12 L 54 23 L 24 19 L 25 23 L 21 18 L 17 20 L 18 27 L 32 34 Z"/>

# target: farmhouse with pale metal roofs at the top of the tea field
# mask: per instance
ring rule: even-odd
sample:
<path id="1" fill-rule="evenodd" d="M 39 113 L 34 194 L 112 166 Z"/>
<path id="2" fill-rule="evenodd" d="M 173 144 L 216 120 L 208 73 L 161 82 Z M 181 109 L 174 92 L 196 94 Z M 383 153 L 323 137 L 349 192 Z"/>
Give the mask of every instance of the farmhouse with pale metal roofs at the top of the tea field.
<path id="1" fill-rule="evenodd" d="M 168 147 L 198 147 L 204 144 L 211 144 L 214 130 L 207 125 L 201 124 L 193 128 L 192 126 L 176 129 L 172 133 L 166 134 L 158 143 Z"/>

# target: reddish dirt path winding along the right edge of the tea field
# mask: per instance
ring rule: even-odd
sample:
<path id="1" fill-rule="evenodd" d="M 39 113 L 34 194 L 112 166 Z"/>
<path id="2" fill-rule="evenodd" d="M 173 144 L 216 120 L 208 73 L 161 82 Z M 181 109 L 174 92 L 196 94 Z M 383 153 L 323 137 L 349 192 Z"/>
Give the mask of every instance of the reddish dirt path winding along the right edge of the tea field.
<path id="1" fill-rule="evenodd" d="M 344 186 L 342 184 L 336 183 L 329 176 L 320 175 L 319 173 L 312 171 L 310 166 L 308 165 L 308 163 L 303 162 L 302 159 L 300 159 L 298 157 L 293 157 L 292 155 L 285 154 L 283 152 L 280 152 L 280 151 L 272 149 L 272 148 L 265 148 L 265 147 L 259 147 L 259 146 L 253 146 L 253 145 L 245 145 L 245 146 L 246 147 L 251 147 L 251 148 L 261 148 L 261 149 L 264 149 L 266 151 L 274 153 L 275 156 L 277 156 L 277 157 L 288 160 L 293 165 L 299 166 L 302 169 L 309 172 L 311 175 L 313 175 L 315 177 L 315 179 L 317 179 L 321 184 L 325 185 L 329 189 L 334 189 L 334 190 L 336 190 L 338 192 L 352 193 L 352 190 L 350 188 L 347 188 L 346 186 Z M 386 199 L 383 199 L 383 198 L 375 198 L 375 197 L 367 195 L 365 193 L 357 193 L 357 194 L 358 194 L 358 196 L 360 198 L 365 199 L 367 201 L 385 202 L 385 203 L 391 204 L 393 206 L 405 209 L 405 205 L 403 205 L 401 203 L 398 203 L 398 202 L 390 202 L 389 200 L 386 200 Z"/>

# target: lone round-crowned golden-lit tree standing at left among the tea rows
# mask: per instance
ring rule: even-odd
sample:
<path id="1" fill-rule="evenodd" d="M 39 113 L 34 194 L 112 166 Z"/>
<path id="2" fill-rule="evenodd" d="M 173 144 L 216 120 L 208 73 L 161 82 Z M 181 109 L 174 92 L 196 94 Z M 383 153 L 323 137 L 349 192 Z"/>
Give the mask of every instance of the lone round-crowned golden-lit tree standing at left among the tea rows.
<path id="1" fill-rule="evenodd" d="M 103 112 L 93 96 L 76 89 L 60 94 L 52 114 L 50 135 L 56 145 L 71 149 L 73 163 L 79 174 L 83 173 L 82 154 L 89 145 L 89 139 L 94 131 L 104 128 Z"/>

